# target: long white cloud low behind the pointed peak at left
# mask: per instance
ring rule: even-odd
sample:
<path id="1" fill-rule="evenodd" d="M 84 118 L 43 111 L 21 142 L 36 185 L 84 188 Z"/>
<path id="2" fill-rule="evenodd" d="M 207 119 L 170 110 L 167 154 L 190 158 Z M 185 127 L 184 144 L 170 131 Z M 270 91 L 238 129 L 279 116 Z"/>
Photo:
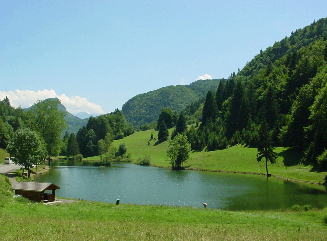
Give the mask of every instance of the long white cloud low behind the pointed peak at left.
<path id="1" fill-rule="evenodd" d="M 0 99 L 2 100 L 8 96 L 10 105 L 17 108 L 21 106 L 23 108 L 27 108 L 32 106 L 37 100 L 44 100 L 47 98 L 55 98 L 57 97 L 60 99 L 61 104 L 63 104 L 67 111 L 72 114 L 76 114 L 79 112 L 86 112 L 86 113 L 98 113 L 103 114 L 104 111 L 100 105 L 96 105 L 91 103 L 87 100 L 87 98 L 79 97 L 79 96 L 72 96 L 68 97 L 65 94 L 61 94 L 60 96 L 51 89 L 51 90 L 15 90 L 14 91 L 0 91 Z"/>

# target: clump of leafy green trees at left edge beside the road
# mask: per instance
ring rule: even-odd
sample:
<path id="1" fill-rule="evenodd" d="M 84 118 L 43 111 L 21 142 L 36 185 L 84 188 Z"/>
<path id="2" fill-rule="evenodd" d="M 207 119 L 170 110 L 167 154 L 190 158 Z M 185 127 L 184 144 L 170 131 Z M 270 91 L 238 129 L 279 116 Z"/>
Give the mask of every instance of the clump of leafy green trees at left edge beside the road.
<path id="1" fill-rule="evenodd" d="M 66 127 L 65 113 L 58 110 L 60 101 L 37 101 L 28 111 L 13 108 L 6 97 L 1 103 L 1 148 L 22 165 L 29 177 L 34 164 L 60 153 L 61 132 Z"/>

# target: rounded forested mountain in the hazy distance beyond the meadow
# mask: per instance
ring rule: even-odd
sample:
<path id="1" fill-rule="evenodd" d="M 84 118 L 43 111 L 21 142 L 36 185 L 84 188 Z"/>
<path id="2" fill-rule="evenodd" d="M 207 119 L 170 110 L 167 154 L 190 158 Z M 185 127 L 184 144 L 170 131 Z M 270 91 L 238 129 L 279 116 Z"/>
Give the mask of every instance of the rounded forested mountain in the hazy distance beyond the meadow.
<path id="1" fill-rule="evenodd" d="M 122 107 L 126 120 L 139 127 L 158 119 L 161 109 L 180 112 L 191 102 L 203 98 L 208 90 L 215 90 L 220 79 L 198 80 L 188 85 L 166 86 L 129 99 Z"/>

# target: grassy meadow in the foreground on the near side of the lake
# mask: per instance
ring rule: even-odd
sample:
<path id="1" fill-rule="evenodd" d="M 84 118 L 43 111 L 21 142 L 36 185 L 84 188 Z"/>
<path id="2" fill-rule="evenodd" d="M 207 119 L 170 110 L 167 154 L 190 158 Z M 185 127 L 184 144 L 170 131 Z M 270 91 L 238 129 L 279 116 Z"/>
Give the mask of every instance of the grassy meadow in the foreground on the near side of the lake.
<path id="1" fill-rule="evenodd" d="M 3 241 L 326 240 L 327 209 L 222 211 L 80 201 L 44 205 L 12 198 L 0 175 Z"/>

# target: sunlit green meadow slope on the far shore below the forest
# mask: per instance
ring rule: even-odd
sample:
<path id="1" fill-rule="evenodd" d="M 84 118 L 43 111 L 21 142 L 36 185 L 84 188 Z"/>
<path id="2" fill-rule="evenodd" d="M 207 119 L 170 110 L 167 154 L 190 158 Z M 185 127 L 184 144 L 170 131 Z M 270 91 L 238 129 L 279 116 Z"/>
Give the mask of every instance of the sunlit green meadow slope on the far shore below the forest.
<path id="1" fill-rule="evenodd" d="M 173 129 L 169 129 L 169 134 Z M 150 140 L 151 133 L 157 139 L 158 131 L 146 130 L 136 132 L 121 140 L 115 140 L 113 146 L 118 147 L 120 143 L 125 143 L 128 151 L 131 153 L 133 162 L 137 158 L 148 154 L 151 157 L 151 165 L 169 168 L 170 164 L 166 160 L 166 150 L 168 141 L 158 143 L 157 140 Z M 269 173 L 283 178 L 297 179 L 308 182 L 323 183 L 326 172 L 311 171 L 311 166 L 303 166 L 300 163 L 301 153 L 288 150 L 287 148 L 277 147 L 277 163 L 268 163 Z M 188 169 L 203 171 L 228 171 L 245 173 L 266 173 L 266 164 L 264 161 L 257 162 L 257 149 L 247 148 L 241 145 L 232 146 L 225 150 L 211 152 L 192 152 L 191 158 L 185 163 L 190 165 Z M 99 157 L 86 158 L 90 160 L 100 159 Z"/>

